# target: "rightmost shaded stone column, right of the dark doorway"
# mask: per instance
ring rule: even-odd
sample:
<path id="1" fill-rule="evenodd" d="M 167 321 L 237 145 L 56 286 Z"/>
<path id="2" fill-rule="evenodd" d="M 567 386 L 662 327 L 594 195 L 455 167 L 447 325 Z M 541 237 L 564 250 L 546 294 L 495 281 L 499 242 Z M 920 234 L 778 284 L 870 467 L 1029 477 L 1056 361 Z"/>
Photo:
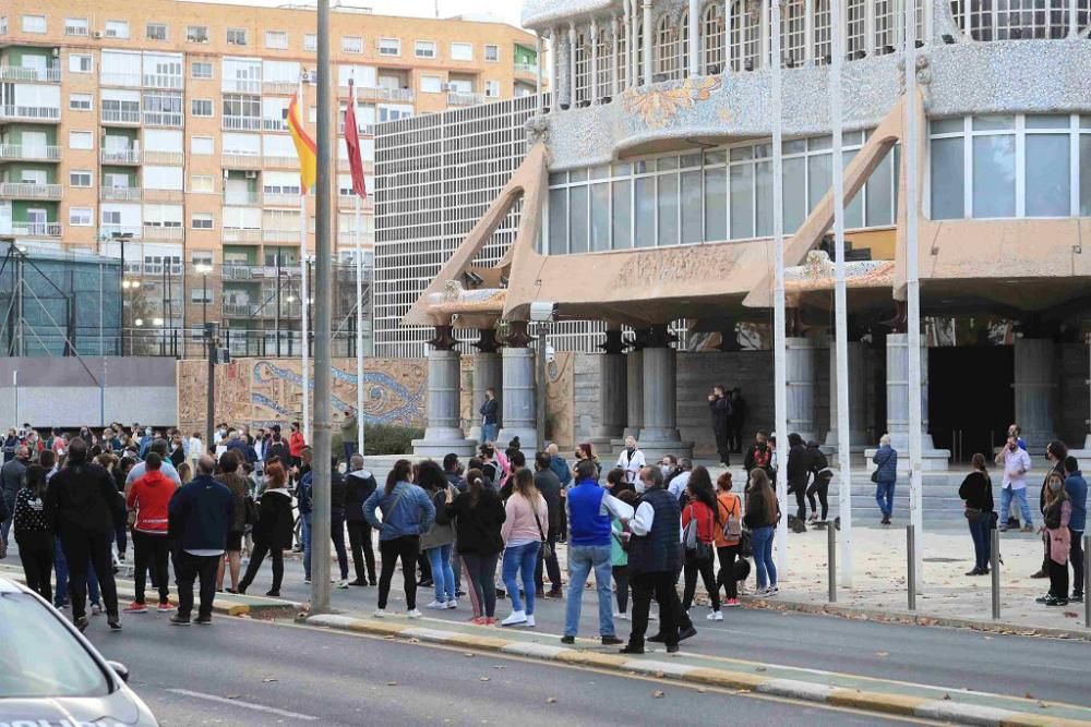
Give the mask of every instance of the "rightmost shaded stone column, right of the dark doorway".
<path id="1" fill-rule="evenodd" d="M 1057 346 L 1048 338 L 1017 338 L 1015 354 L 1016 424 L 1027 450 L 1044 453 L 1055 433 Z"/>

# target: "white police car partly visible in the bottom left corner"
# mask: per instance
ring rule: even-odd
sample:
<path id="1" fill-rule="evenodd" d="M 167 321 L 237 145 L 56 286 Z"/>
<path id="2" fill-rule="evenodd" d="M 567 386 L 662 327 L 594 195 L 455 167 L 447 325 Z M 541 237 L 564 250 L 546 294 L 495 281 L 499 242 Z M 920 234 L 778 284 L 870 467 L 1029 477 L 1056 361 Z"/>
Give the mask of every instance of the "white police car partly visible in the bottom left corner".
<path id="1" fill-rule="evenodd" d="M 157 725 L 128 678 L 36 593 L 0 578 L 0 727 Z"/>

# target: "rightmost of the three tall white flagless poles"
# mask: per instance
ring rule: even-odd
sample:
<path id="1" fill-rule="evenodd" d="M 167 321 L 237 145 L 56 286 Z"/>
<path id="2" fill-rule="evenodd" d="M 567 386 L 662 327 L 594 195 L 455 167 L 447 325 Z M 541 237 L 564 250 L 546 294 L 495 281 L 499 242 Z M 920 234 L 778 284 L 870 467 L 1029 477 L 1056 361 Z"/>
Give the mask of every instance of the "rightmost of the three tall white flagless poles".
<path id="1" fill-rule="evenodd" d="M 906 10 L 906 128 L 901 138 L 902 157 L 906 159 L 906 292 L 908 304 L 909 343 L 909 519 L 913 525 L 916 591 L 923 583 L 924 518 L 922 517 L 921 478 L 921 287 L 918 272 L 916 222 L 920 207 L 918 186 L 916 118 L 916 3 L 903 0 Z"/>

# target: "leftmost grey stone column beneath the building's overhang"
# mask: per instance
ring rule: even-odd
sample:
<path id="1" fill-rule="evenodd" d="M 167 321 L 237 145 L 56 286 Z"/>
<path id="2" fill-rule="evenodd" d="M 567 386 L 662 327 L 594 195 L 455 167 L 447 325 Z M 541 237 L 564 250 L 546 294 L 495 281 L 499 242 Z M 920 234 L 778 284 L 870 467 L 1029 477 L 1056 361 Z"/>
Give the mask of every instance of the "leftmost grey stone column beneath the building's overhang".
<path id="1" fill-rule="evenodd" d="M 447 452 L 473 455 L 476 443 L 463 434 L 459 421 L 459 354 L 451 326 L 436 326 L 428 354 L 428 427 L 412 443 L 416 457 L 442 458 Z"/>

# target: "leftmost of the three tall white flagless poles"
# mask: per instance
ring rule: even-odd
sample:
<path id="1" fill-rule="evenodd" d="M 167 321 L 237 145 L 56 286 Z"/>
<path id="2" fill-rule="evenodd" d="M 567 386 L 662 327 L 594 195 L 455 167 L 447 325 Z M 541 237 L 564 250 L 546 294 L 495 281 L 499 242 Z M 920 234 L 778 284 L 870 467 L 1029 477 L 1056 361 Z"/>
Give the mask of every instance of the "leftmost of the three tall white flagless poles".
<path id="1" fill-rule="evenodd" d="M 777 523 L 777 570 L 788 570 L 788 372 L 784 325 L 784 155 L 781 118 L 780 3 L 772 0 L 770 37 L 772 39 L 772 84 L 769 112 L 772 116 L 772 251 L 776 282 L 772 308 L 774 404 L 777 426 L 777 501 L 782 517 Z"/>

